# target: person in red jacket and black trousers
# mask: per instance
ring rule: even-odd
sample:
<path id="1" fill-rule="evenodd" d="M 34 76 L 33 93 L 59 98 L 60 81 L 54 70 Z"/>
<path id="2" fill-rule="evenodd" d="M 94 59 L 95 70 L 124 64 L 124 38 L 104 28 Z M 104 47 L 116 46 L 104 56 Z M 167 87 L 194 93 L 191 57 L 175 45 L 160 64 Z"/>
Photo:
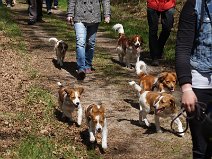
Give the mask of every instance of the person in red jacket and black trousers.
<path id="1" fill-rule="evenodd" d="M 158 60 L 163 57 L 164 46 L 174 23 L 175 5 L 176 0 L 147 0 L 149 50 L 153 66 L 158 66 Z M 162 30 L 158 36 L 159 23 L 162 24 Z"/>

